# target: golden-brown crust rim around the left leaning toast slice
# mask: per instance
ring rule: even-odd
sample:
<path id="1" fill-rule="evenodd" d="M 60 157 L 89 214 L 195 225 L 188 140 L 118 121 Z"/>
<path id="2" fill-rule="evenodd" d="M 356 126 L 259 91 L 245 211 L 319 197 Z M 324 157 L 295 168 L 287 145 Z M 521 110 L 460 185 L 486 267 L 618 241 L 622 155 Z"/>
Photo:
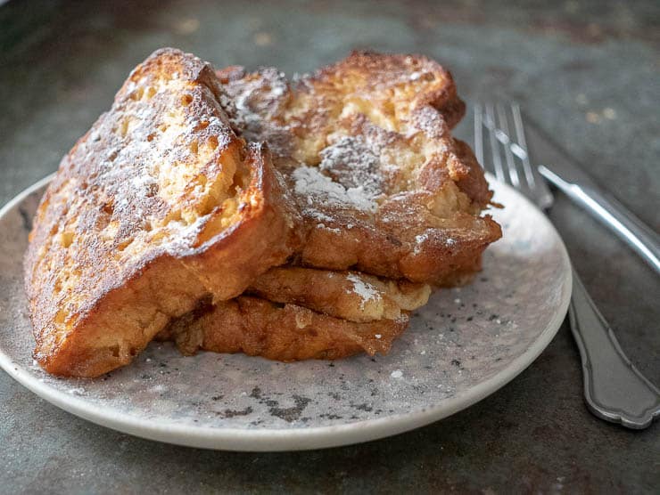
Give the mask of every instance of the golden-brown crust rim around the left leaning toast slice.
<path id="1" fill-rule="evenodd" d="M 158 56 L 185 57 L 173 49 L 157 51 L 131 77 Z M 215 79 L 208 64 L 196 58 L 194 61 L 200 67 L 186 67 L 194 77 L 202 78 L 205 71 L 204 77 Z M 90 132 L 78 140 L 70 154 L 89 138 Z M 236 140 L 235 145 L 244 146 L 244 142 Z M 260 272 L 285 262 L 297 239 L 293 231 L 294 208 L 288 204 L 284 183 L 274 170 L 268 151 L 251 144 L 243 152 L 249 161 L 250 181 L 240 195 L 245 208 L 239 221 L 201 246 L 177 251 L 176 255 L 156 253 L 142 260 L 132 272 L 109 280 L 100 296 L 74 308 L 69 318 L 71 324 L 65 323 L 63 329 L 62 321 L 57 319 L 67 303 L 55 301 L 45 293 L 48 285 L 43 281 L 47 281 L 48 272 L 35 272 L 40 245 L 51 230 L 49 221 L 56 220 L 48 216 L 53 185 L 46 191 L 24 261 L 25 287 L 37 342 L 34 356 L 46 371 L 61 376 L 94 377 L 128 364 L 169 318 L 191 311 L 197 300 L 209 293 L 216 299 L 237 296 Z M 62 163 L 69 157 L 63 158 Z M 67 173 L 70 170 L 61 168 L 54 183 Z M 85 298 L 84 294 L 78 296 Z"/>

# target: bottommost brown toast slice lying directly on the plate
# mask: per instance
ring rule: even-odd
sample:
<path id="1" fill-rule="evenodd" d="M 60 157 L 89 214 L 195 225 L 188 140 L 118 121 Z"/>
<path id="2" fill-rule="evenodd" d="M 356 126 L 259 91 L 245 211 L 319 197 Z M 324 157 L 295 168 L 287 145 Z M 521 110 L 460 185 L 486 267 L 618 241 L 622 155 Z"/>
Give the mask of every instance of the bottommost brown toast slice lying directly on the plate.
<path id="1" fill-rule="evenodd" d="M 176 342 L 184 354 L 203 350 L 276 361 L 334 360 L 362 352 L 388 353 L 407 327 L 405 312 L 396 320 L 358 323 L 296 304 L 239 296 L 172 321 L 156 339 Z"/>

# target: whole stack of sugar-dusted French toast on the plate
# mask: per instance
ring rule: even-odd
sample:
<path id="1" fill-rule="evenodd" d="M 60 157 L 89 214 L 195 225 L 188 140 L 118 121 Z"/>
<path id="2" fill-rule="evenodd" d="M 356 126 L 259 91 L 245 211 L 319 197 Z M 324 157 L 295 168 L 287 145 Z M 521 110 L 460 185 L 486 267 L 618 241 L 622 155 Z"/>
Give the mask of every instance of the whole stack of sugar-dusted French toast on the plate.
<path id="1" fill-rule="evenodd" d="M 387 353 L 501 231 L 450 73 L 352 53 L 312 76 L 166 48 L 62 159 L 25 257 L 34 356 L 95 377 L 154 339 L 280 361 Z"/>

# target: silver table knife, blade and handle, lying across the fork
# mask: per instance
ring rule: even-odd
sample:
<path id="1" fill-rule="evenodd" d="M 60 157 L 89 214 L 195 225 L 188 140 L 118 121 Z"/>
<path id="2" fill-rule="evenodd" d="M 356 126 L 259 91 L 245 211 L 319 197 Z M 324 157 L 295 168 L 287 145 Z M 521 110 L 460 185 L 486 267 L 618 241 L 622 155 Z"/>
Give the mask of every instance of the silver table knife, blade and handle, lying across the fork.
<path id="1" fill-rule="evenodd" d="M 660 275 L 660 235 L 614 197 L 600 189 L 531 118 L 525 115 L 524 121 L 530 152 L 536 157 L 543 157 L 544 163 L 552 164 L 538 166 L 539 173 L 614 231 Z M 516 153 L 518 150 L 512 147 L 512 151 Z"/>

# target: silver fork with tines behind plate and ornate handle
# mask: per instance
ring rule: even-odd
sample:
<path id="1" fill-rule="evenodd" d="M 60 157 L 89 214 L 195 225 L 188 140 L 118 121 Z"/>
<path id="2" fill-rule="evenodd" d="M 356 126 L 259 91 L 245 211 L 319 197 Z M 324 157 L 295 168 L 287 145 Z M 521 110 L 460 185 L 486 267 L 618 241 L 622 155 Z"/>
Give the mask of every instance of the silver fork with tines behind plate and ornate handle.
<path id="1" fill-rule="evenodd" d="M 491 150 L 488 161 L 483 159 L 486 146 Z M 474 106 L 474 154 L 498 181 L 514 186 L 543 211 L 552 207 L 552 192 L 530 161 L 523 118 L 516 103 Z M 587 406 L 598 418 L 629 428 L 646 428 L 660 415 L 660 391 L 623 353 L 614 331 L 573 267 L 572 272 L 568 316 L 582 359 Z"/>

